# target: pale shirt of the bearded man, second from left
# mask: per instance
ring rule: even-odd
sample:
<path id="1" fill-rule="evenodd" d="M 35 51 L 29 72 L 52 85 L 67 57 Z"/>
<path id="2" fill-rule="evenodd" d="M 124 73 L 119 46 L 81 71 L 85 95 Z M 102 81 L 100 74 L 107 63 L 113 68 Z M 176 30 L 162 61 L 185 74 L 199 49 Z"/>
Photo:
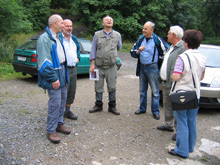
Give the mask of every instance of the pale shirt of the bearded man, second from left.
<path id="1" fill-rule="evenodd" d="M 76 66 L 77 63 L 77 48 L 76 44 L 70 36 L 70 40 L 63 35 L 63 45 L 66 51 L 67 66 Z"/>

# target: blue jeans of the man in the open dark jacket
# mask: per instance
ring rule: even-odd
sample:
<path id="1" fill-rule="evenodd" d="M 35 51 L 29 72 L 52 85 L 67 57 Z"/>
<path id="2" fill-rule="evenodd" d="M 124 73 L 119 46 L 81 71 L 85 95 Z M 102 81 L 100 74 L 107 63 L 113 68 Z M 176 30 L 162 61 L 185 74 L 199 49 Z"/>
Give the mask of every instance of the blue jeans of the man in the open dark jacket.
<path id="1" fill-rule="evenodd" d="M 159 114 L 159 69 L 157 63 L 150 65 L 140 65 L 140 111 L 145 112 L 147 109 L 147 90 L 148 84 L 151 87 L 151 112 Z"/>

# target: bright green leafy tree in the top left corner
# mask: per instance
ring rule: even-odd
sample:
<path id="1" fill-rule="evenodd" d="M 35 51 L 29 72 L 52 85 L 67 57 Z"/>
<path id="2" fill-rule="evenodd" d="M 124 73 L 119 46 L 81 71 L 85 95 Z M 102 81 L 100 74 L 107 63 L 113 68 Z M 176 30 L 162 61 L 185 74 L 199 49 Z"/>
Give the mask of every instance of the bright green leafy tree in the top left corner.
<path id="1" fill-rule="evenodd" d="M 32 24 L 18 0 L 0 0 L 0 35 L 30 32 Z"/>

